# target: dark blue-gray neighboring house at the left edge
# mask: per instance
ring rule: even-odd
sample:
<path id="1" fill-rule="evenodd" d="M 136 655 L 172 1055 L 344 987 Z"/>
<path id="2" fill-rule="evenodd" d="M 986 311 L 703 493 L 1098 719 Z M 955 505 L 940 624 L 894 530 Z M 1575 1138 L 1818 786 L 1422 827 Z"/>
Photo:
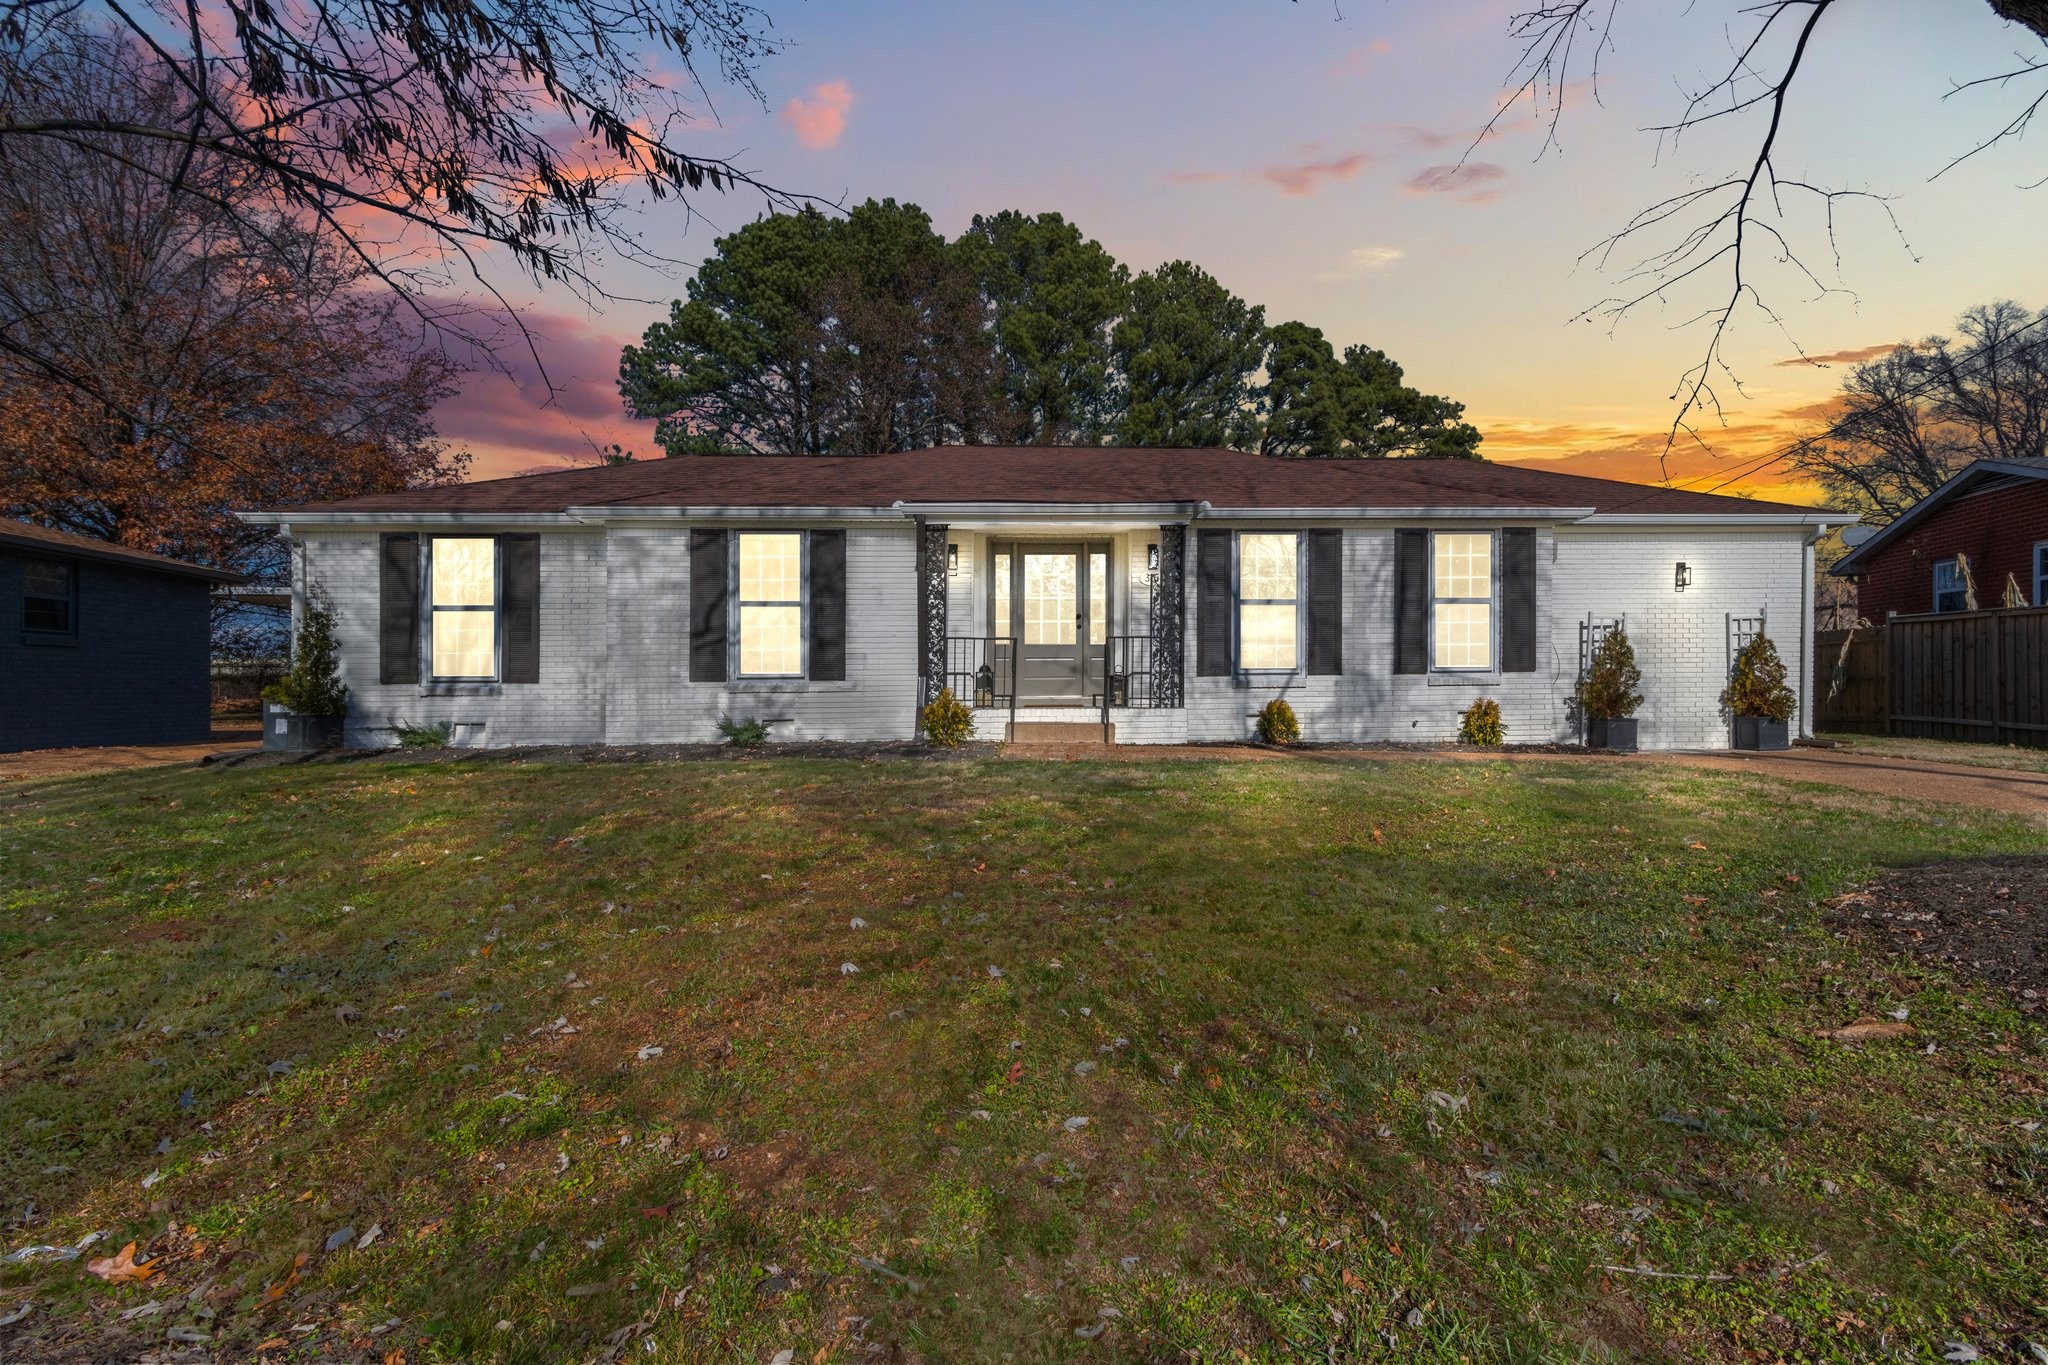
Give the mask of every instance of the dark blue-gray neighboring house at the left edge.
<path id="1" fill-rule="evenodd" d="M 205 741 L 209 596 L 236 581 L 0 520 L 0 753 Z"/>

